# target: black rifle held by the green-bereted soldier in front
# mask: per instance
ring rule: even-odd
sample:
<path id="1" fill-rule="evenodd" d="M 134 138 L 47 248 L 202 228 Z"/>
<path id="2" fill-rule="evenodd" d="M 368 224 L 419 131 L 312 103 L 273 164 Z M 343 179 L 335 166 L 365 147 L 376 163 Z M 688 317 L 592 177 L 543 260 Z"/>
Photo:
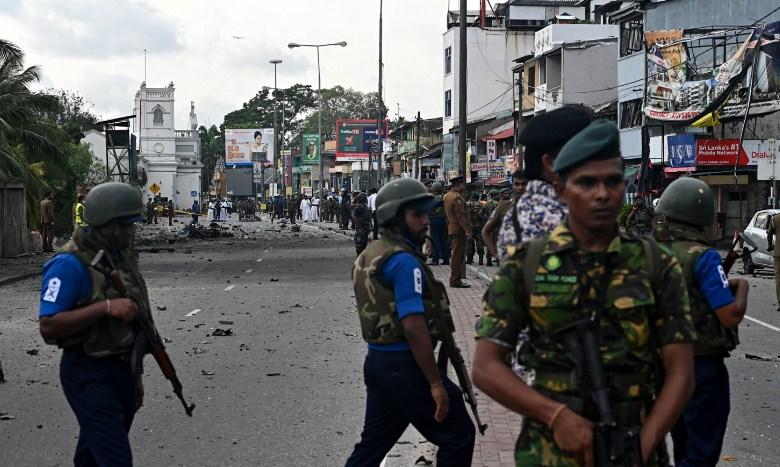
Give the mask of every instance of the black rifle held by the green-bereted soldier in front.
<path id="1" fill-rule="evenodd" d="M 598 412 L 593 430 L 593 455 L 598 467 L 642 467 L 639 427 L 618 426 L 609 401 L 609 386 L 601 361 L 599 335 L 594 319 L 586 318 L 566 326 L 566 348 L 575 361 L 575 375 L 590 386 Z M 557 334 L 557 333 L 556 333 Z"/>

